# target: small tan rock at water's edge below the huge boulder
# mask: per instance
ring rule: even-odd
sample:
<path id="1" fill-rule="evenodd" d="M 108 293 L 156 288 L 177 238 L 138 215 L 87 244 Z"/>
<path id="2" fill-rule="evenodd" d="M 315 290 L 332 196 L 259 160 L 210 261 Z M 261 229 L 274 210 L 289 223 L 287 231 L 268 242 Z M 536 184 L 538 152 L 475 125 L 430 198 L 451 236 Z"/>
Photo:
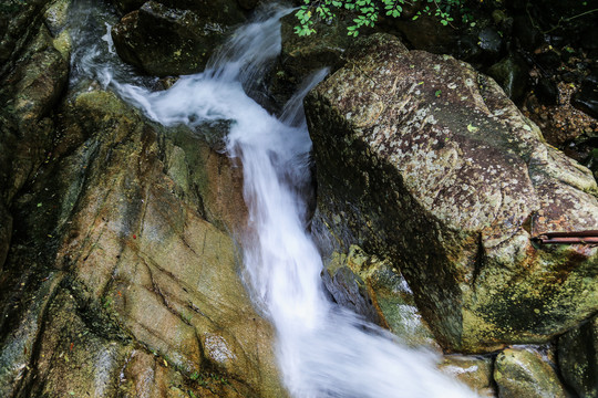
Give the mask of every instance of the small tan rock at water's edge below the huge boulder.
<path id="1" fill-rule="evenodd" d="M 482 397 L 495 397 L 493 360 L 487 357 L 446 355 L 439 365 L 441 371 L 461 380 Z"/>

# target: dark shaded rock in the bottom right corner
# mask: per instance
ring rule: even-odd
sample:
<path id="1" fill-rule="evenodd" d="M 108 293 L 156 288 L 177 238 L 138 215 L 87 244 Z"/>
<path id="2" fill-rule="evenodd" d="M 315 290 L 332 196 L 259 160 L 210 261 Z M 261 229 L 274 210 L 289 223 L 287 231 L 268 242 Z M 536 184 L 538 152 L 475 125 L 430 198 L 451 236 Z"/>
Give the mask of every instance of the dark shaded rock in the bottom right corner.
<path id="1" fill-rule="evenodd" d="M 558 338 L 563 378 L 581 398 L 598 396 L 598 318 Z"/>

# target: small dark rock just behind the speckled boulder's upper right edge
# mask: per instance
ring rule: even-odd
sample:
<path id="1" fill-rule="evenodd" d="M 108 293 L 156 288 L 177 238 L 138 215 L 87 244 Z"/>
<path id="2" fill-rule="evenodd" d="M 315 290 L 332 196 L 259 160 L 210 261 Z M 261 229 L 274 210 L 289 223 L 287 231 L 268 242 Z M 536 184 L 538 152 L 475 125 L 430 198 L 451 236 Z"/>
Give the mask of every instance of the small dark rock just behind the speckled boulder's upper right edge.
<path id="1" fill-rule="evenodd" d="M 522 98 L 529 76 L 527 65 L 520 57 L 516 55 L 507 56 L 492 65 L 487 73 L 503 87 L 511 100 L 517 101 Z"/>

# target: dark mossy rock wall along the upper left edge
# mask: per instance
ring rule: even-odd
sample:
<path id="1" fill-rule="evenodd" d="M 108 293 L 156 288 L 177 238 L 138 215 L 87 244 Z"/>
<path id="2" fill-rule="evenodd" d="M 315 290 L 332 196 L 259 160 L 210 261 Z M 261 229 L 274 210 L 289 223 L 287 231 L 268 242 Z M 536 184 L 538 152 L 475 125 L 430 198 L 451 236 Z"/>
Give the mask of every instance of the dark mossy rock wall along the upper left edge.
<path id="1" fill-rule="evenodd" d="M 12 235 L 8 208 L 50 150 L 51 109 L 69 74 L 69 54 L 41 24 L 47 3 L 0 6 L 0 271 Z"/>

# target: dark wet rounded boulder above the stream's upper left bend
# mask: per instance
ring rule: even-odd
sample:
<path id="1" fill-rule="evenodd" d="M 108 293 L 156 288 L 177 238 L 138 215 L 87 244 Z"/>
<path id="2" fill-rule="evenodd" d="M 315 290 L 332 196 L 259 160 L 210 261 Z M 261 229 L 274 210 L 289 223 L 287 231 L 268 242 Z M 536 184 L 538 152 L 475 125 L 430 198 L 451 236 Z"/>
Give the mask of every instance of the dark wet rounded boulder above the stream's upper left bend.
<path id="1" fill-rule="evenodd" d="M 203 13 L 147 1 L 113 27 L 112 38 L 125 62 L 166 76 L 200 72 L 227 31 Z"/>

